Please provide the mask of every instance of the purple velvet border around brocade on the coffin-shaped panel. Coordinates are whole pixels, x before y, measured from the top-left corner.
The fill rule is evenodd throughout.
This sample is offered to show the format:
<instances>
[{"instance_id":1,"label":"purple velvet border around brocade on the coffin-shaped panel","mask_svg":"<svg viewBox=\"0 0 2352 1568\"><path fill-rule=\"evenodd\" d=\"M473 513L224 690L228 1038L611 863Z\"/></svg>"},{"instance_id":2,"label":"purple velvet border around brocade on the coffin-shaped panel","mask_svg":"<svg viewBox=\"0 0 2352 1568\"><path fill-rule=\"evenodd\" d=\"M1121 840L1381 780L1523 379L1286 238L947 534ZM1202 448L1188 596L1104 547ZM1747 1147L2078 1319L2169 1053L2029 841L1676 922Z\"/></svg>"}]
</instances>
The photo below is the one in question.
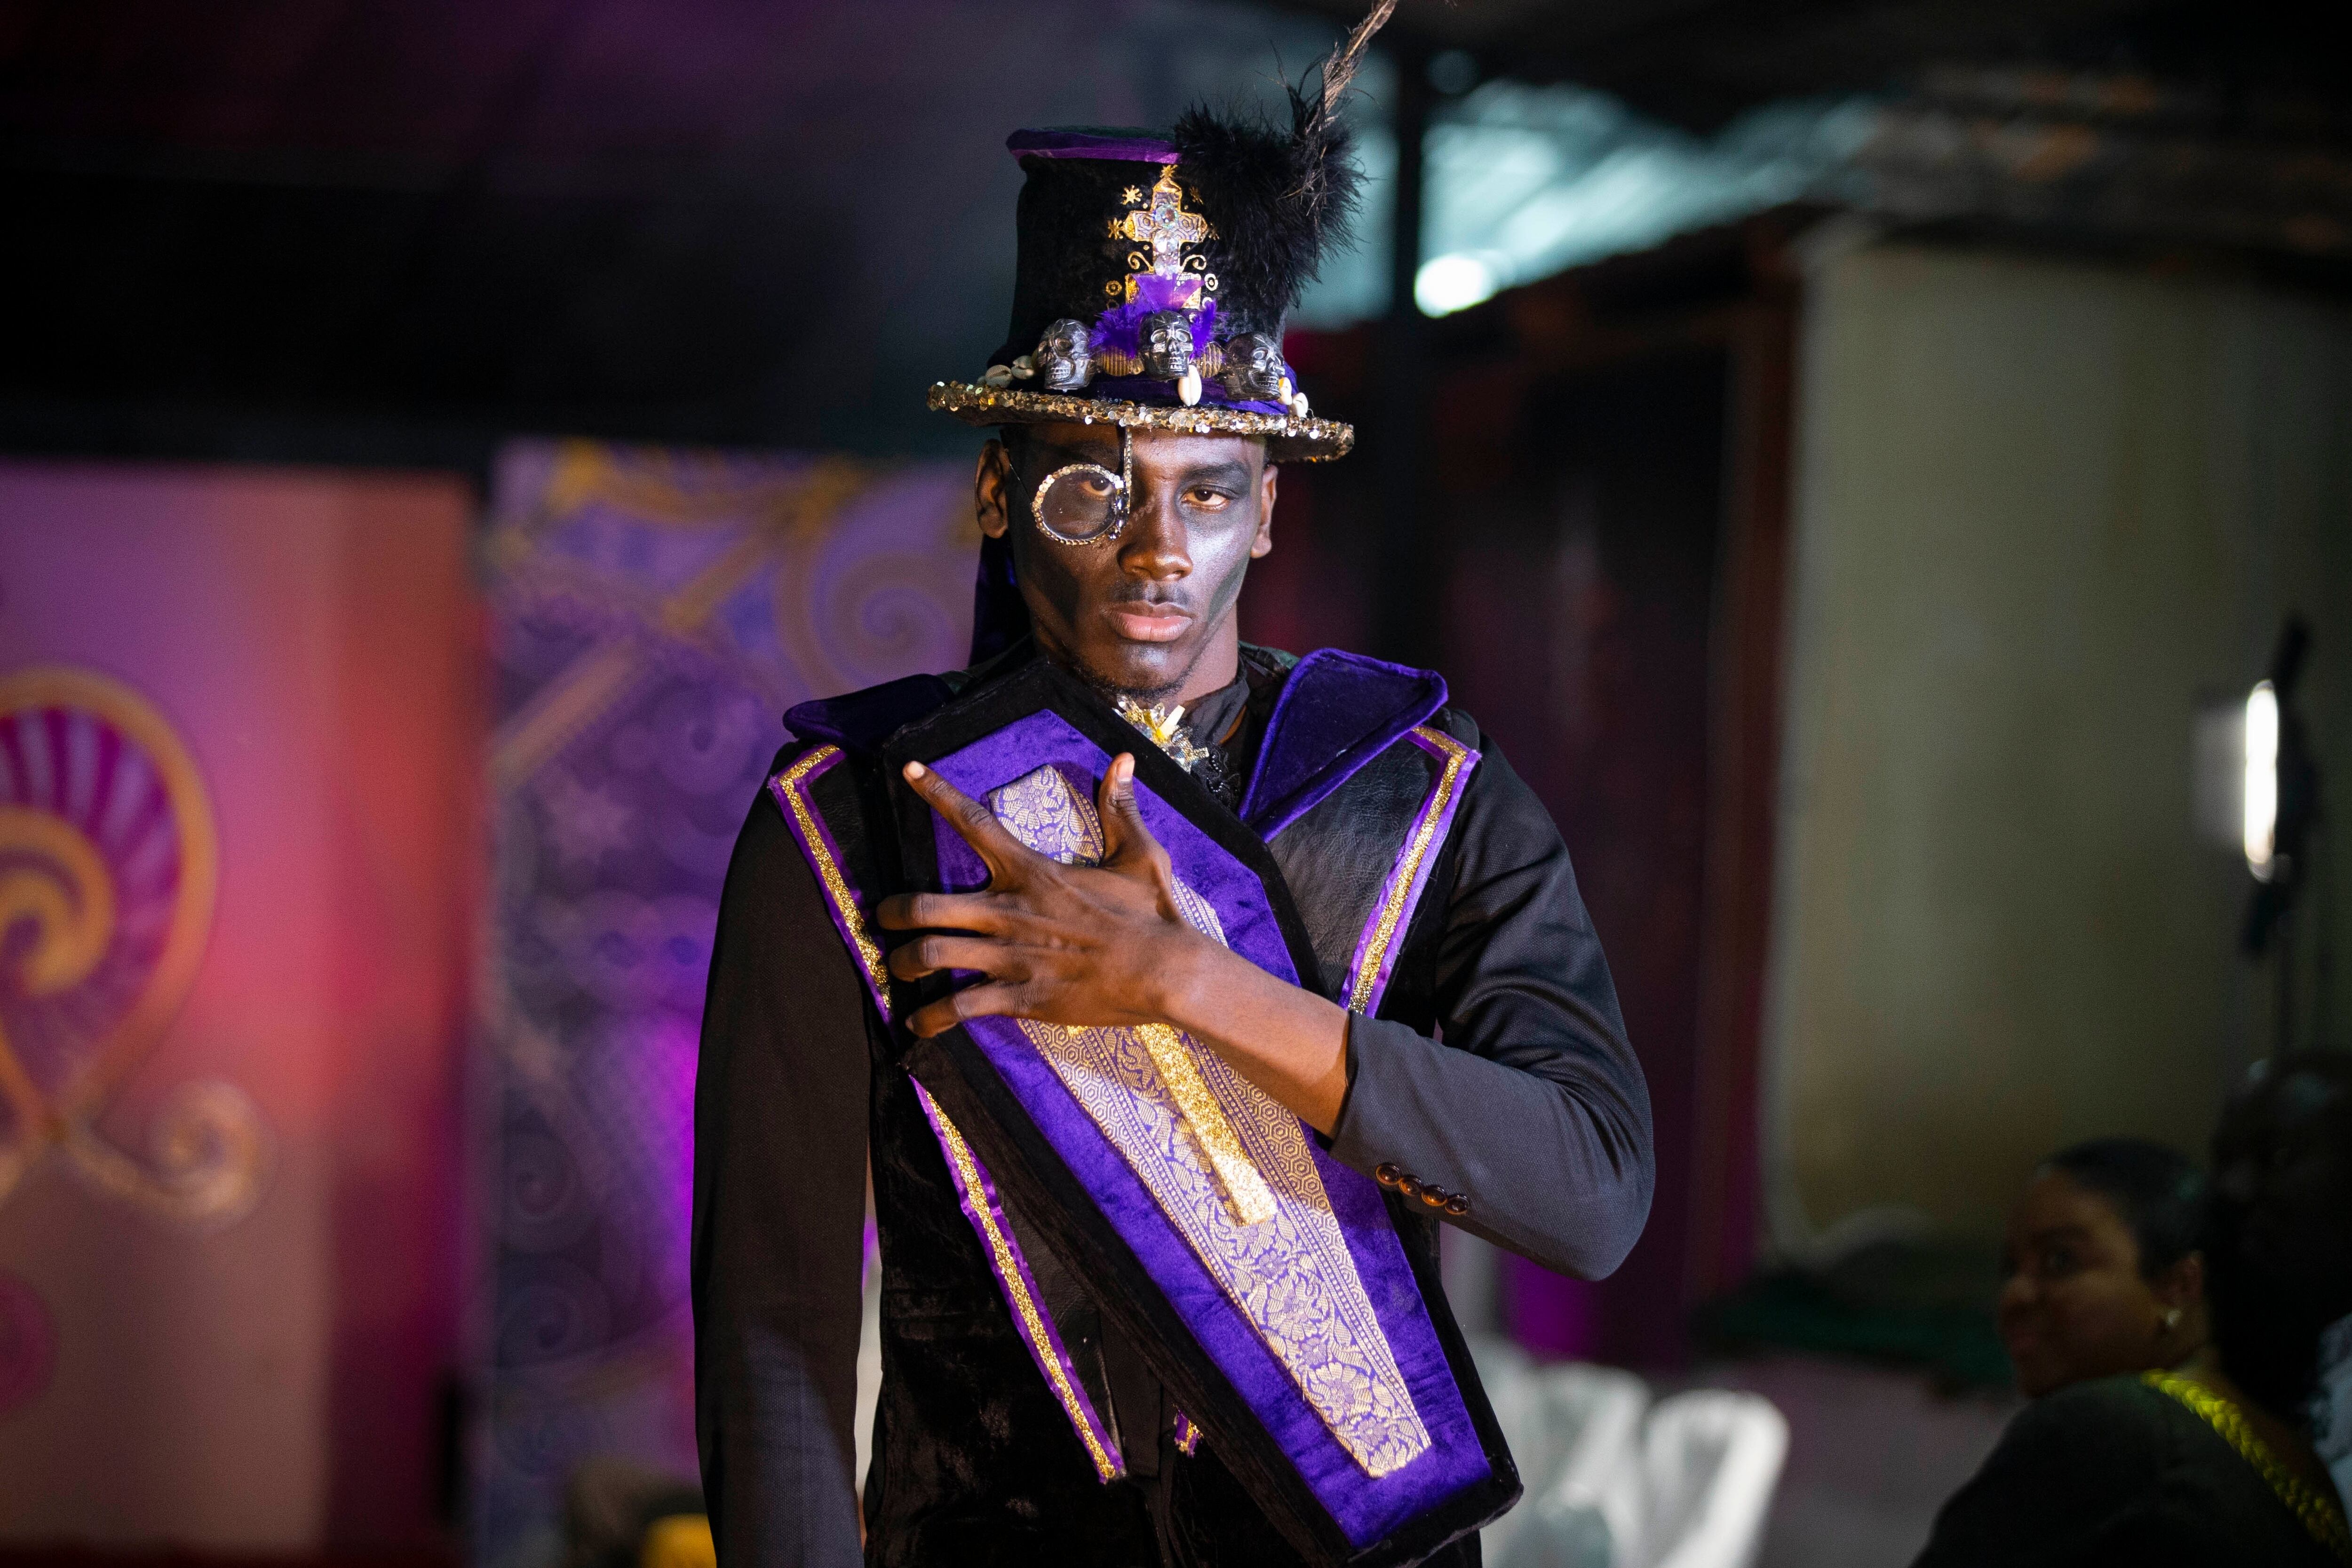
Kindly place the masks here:
<instances>
[{"instance_id":1,"label":"purple velvet border around brocade on the coffin-shaped panel","mask_svg":"<svg viewBox=\"0 0 2352 1568\"><path fill-rule=\"evenodd\" d=\"M1296 679L1296 672L1294 672ZM981 743L938 757L931 766L974 799L1037 766L1054 764L1094 783L1110 755L1054 712L1037 712ZM1336 788L1336 785L1334 785ZM1216 907L1235 952L1268 973L1298 983L1263 884L1214 844L1185 813L1141 778L1136 804L1169 851L1176 872ZM985 886L988 872L964 839L936 825L941 884L950 891ZM1124 1157L1070 1098L1054 1070L1023 1037L1018 1023L981 1018L964 1025L990 1065L1070 1166L1101 1213L1143 1260L1152 1281L1183 1316L1200 1347L1218 1363L1251 1413L1279 1441L1317 1502L1350 1547L1367 1547L1409 1519L1432 1512L1456 1493L1489 1479L1489 1462L1472 1427L1444 1347L1421 1300L1381 1190L1341 1166L1310 1140L1317 1175L1355 1258L1381 1328L1430 1432L1430 1448L1404 1469L1374 1481L1338 1446L1322 1418L1298 1394L1249 1319L1209 1276Z\"/></svg>"}]
</instances>

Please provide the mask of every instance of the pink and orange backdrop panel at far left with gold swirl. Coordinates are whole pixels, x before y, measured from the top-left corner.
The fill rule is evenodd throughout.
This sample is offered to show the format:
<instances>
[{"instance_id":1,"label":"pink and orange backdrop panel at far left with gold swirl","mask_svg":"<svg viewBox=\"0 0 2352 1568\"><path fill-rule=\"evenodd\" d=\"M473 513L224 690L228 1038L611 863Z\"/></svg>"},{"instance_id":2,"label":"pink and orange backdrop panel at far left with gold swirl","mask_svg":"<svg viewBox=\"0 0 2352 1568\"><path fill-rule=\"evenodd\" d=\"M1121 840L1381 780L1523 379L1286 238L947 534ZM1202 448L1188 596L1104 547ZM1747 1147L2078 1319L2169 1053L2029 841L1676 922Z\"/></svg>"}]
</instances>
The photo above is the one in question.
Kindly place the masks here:
<instances>
[{"instance_id":1,"label":"pink and orange backdrop panel at far left with gold swirl","mask_svg":"<svg viewBox=\"0 0 2352 1568\"><path fill-rule=\"evenodd\" d=\"M0 1544L433 1552L456 480L0 463Z\"/></svg>"}]
</instances>

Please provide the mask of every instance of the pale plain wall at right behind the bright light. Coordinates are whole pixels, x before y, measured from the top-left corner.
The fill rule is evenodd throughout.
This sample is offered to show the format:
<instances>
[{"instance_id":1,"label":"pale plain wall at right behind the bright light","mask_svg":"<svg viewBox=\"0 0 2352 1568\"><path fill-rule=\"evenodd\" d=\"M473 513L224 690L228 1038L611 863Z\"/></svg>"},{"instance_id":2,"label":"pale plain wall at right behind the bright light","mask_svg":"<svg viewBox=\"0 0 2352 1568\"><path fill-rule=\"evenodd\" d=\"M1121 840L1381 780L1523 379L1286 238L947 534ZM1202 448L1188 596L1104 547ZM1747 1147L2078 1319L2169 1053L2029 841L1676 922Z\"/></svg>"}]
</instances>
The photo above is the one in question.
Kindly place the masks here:
<instances>
[{"instance_id":1,"label":"pale plain wall at right behind the bright light","mask_svg":"<svg viewBox=\"0 0 2352 1568\"><path fill-rule=\"evenodd\" d=\"M1816 268L1766 1001L1783 1241L1879 1204L1992 1234L2074 1138L2201 1152L2270 987L2234 954L2244 867L2194 832L2194 712L2300 609L2352 816L2347 435L2340 306L1891 244Z\"/></svg>"}]
</instances>

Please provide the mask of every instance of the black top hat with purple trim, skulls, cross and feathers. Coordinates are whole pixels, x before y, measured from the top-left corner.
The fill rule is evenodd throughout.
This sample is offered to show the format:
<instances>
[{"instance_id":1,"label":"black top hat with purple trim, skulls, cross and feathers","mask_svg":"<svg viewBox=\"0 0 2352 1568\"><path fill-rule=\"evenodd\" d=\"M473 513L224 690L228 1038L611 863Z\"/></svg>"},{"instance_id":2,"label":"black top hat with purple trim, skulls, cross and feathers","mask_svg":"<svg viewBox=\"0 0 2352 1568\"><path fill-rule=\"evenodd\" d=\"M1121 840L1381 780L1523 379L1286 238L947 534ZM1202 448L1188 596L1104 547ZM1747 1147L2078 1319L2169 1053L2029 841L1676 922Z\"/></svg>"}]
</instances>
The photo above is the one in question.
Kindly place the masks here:
<instances>
[{"instance_id":1,"label":"black top hat with purple trim, skulls, cross and feathers","mask_svg":"<svg viewBox=\"0 0 2352 1568\"><path fill-rule=\"evenodd\" d=\"M1336 458L1350 425L1308 414L1282 320L1343 240L1359 174L1338 103L1383 0L1291 87L1291 125L1207 108L1171 132L1040 129L1004 143L1028 183L1011 336L929 402L974 425L1084 421L1263 435L1275 461Z\"/></svg>"}]
</instances>

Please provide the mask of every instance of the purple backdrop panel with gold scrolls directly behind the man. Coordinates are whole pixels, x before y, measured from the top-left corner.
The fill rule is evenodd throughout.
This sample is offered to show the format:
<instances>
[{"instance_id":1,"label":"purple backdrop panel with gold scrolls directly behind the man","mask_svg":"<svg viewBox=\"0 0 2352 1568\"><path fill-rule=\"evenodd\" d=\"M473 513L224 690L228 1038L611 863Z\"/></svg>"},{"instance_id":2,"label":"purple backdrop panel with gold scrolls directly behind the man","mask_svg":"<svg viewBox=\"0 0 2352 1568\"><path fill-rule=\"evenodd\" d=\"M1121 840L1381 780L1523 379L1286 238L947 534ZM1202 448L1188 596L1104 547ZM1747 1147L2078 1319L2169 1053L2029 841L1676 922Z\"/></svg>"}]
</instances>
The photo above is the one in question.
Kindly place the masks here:
<instances>
[{"instance_id":1,"label":"purple backdrop panel with gold scrolls directly behind the man","mask_svg":"<svg viewBox=\"0 0 2352 1568\"><path fill-rule=\"evenodd\" d=\"M553 1559L588 1460L694 1476L689 1133L727 856L786 708L964 663L976 548L964 463L499 463L485 1568Z\"/></svg>"}]
</instances>

